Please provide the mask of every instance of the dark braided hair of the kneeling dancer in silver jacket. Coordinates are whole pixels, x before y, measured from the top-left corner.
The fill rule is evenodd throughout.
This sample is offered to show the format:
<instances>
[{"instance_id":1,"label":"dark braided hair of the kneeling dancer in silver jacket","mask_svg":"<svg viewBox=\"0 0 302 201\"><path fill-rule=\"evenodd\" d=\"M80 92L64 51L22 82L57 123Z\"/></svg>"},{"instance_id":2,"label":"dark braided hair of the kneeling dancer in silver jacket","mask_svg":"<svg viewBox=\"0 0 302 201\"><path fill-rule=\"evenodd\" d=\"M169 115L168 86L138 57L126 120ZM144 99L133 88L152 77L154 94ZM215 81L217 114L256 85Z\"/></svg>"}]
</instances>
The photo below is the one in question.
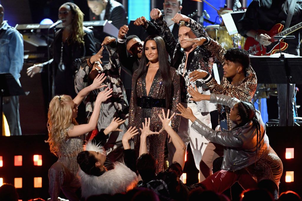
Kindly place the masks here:
<instances>
[{"instance_id":1,"label":"dark braided hair of the kneeling dancer in silver jacket","mask_svg":"<svg viewBox=\"0 0 302 201\"><path fill-rule=\"evenodd\" d=\"M255 117L256 115L255 106L251 102L241 101L238 103L238 112L239 112L239 116L242 119L242 123L239 124L240 126L247 124L249 121L252 121L252 123L256 127L256 132L257 132L256 159L257 159L258 139L259 141L261 140L261 127L259 121Z\"/></svg>"}]
</instances>

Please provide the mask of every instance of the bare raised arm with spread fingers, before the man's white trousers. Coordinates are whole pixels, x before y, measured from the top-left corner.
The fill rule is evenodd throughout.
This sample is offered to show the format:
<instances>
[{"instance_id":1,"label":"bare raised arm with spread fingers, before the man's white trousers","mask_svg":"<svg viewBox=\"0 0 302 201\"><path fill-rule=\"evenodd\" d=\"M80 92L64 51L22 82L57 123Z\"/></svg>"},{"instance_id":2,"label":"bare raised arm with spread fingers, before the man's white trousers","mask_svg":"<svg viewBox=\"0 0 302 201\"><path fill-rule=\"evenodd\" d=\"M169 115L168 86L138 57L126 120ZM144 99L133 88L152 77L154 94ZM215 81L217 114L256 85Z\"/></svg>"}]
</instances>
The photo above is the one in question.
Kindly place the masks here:
<instances>
[{"instance_id":1,"label":"bare raised arm with spread fingers, before the man's white trousers","mask_svg":"<svg viewBox=\"0 0 302 201\"><path fill-rule=\"evenodd\" d=\"M182 141L182 139L178 136L178 134L175 132L175 130L173 130L170 126L169 126L169 122L172 120L172 118L174 117L175 113L173 113L171 115L170 118L169 117L169 113L170 110L167 111L167 117L165 116L165 111L162 109L162 116L159 114L159 118L162 121L162 129L160 130L163 131L167 131L167 133L169 134L173 145L175 146L175 154L173 156L173 162L178 162L181 166L182 169L185 166L185 153L186 153L186 146L185 143Z\"/></svg>"}]
</instances>

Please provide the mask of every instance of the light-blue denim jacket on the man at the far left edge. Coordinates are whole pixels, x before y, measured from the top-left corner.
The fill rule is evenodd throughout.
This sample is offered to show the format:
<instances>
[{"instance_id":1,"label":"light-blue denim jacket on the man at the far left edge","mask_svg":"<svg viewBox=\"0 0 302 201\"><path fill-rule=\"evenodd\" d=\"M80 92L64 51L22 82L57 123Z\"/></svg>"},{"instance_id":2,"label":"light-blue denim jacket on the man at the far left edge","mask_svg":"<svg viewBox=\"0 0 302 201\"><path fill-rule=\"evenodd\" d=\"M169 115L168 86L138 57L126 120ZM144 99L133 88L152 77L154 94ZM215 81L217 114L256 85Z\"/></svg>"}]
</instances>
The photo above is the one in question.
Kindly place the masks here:
<instances>
[{"instance_id":1,"label":"light-blue denim jacket on the man at the far left edge","mask_svg":"<svg viewBox=\"0 0 302 201\"><path fill-rule=\"evenodd\" d=\"M22 34L9 26L7 21L3 21L0 34L0 73L11 73L20 84L24 56Z\"/></svg>"}]
</instances>

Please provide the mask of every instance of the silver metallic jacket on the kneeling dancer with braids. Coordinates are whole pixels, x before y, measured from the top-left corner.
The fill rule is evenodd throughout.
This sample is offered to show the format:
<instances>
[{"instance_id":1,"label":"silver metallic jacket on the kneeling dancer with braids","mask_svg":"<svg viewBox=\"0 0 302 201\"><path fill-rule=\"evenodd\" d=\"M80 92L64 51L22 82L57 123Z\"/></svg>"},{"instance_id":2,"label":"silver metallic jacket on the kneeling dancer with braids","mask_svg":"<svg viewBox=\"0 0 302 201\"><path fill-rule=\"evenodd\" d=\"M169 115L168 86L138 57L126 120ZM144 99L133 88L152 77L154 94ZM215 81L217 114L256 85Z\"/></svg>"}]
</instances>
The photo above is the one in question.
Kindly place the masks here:
<instances>
[{"instance_id":1,"label":"silver metallic jacket on the kneeling dancer with braids","mask_svg":"<svg viewBox=\"0 0 302 201\"><path fill-rule=\"evenodd\" d=\"M230 96L211 93L210 102L233 108L240 101ZM191 127L211 142L223 145L224 155L221 169L235 171L255 163L269 148L265 125L258 110L256 110L256 119L259 121L261 127L261 140L258 142L257 157L257 130L252 121L230 131L215 131L198 119L193 122Z\"/></svg>"}]
</instances>

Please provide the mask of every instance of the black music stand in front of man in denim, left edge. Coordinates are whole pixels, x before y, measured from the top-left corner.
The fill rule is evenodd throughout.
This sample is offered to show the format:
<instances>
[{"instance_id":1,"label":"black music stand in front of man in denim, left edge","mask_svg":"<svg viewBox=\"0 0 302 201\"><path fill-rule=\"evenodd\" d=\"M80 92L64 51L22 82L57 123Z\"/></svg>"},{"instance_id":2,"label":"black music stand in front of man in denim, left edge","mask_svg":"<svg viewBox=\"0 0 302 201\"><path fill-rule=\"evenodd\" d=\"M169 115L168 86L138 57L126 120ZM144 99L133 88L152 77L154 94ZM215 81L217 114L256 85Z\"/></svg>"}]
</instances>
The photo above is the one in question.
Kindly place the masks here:
<instances>
[{"instance_id":1,"label":"black music stand in front of man in denim, left edge","mask_svg":"<svg viewBox=\"0 0 302 201\"><path fill-rule=\"evenodd\" d=\"M10 73L0 73L0 136L2 136L3 97L28 95Z\"/></svg>"}]
</instances>

